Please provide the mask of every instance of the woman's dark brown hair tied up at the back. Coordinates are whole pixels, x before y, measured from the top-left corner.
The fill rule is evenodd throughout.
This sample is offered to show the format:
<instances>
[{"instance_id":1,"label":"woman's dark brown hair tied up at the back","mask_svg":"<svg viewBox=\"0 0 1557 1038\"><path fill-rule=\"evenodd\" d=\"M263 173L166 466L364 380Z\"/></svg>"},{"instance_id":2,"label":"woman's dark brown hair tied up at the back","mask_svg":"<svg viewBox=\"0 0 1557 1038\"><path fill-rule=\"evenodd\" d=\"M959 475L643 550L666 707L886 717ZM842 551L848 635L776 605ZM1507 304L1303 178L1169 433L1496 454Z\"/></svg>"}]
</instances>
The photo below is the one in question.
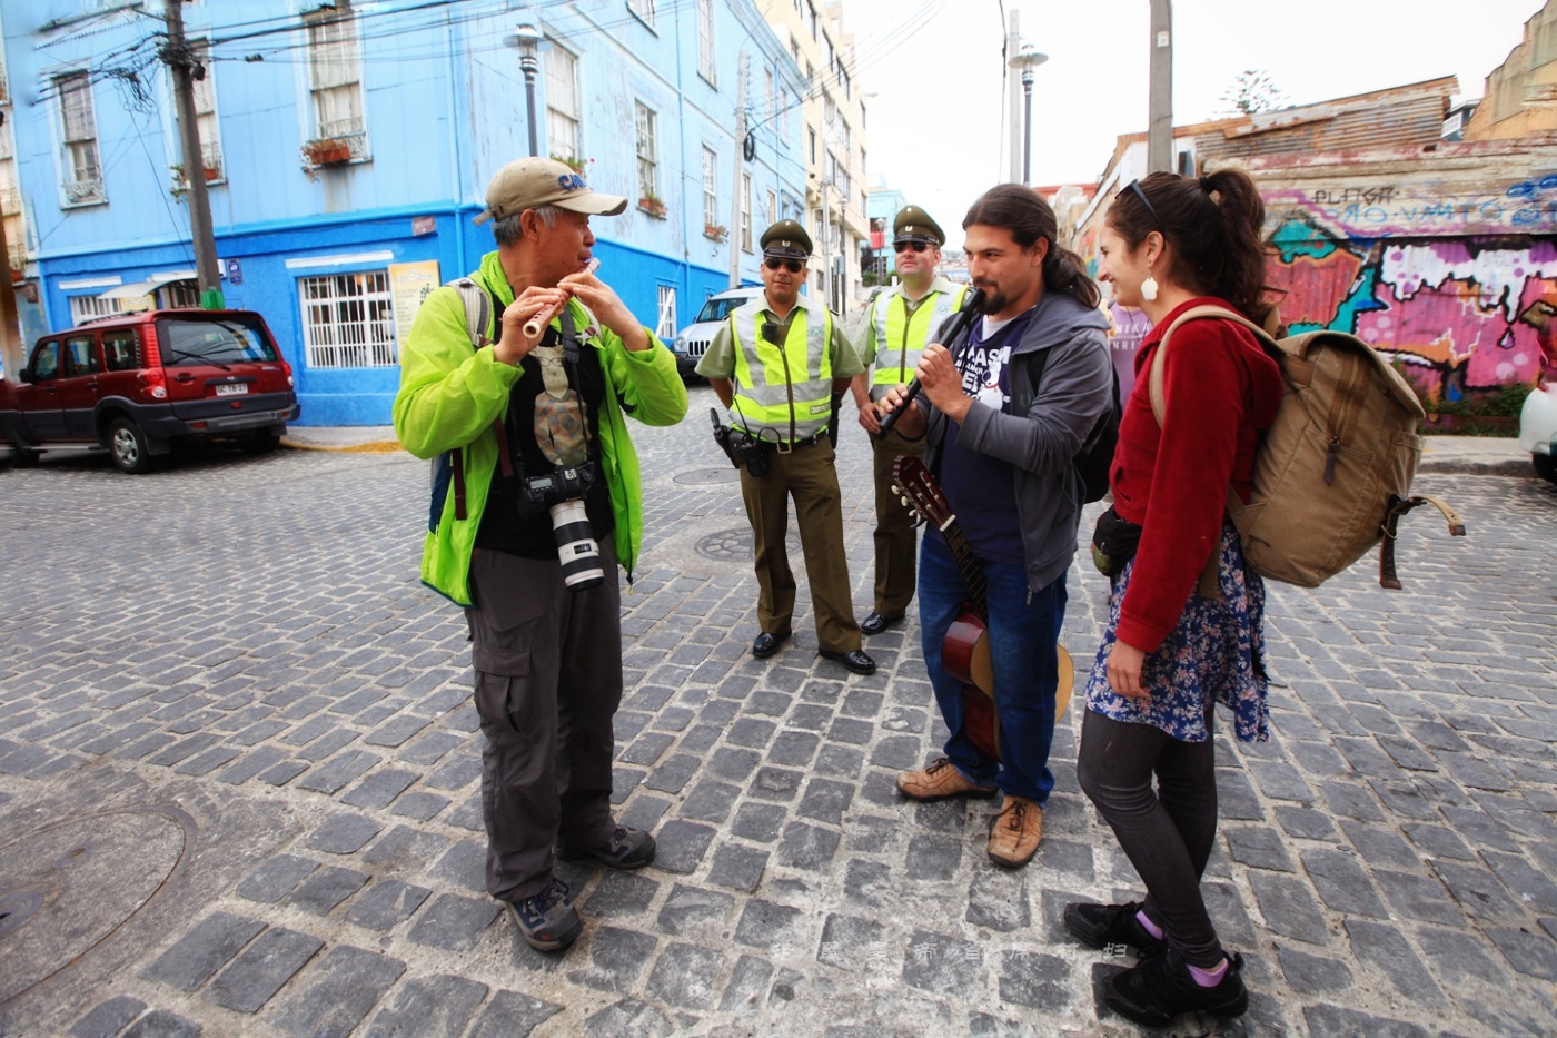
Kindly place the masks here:
<instances>
[{"instance_id":1,"label":"woman's dark brown hair tied up at the back","mask_svg":"<svg viewBox=\"0 0 1557 1038\"><path fill-rule=\"evenodd\" d=\"M1260 240L1264 203L1242 170L1228 167L1200 178L1151 173L1113 196L1105 221L1132 251L1152 231L1172 245L1157 277L1200 296L1221 296L1256 324L1274 309L1267 295L1280 290L1266 284Z\"/></svg>"}]
</instances>

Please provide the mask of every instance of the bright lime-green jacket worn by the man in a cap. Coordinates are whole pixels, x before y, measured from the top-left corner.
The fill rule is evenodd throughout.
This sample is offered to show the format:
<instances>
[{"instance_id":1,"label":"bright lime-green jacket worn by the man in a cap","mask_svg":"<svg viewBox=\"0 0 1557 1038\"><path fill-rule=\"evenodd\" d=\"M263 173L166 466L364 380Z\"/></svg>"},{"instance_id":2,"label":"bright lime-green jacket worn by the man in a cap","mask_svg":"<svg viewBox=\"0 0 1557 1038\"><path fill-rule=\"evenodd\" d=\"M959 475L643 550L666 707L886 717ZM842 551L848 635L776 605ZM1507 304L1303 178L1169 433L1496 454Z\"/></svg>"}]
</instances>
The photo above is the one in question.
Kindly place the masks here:
<instances>
[{"instance_id":1,"label":"bright lime-green jacket worn by the man in a cap","mask_svg":"<svg viewBox=\"0 0 1557 1038\"><path fill-rule=\"evenodd\" d=\"M514 302L514 288L503 274L497 252L481 259L470 276L501 304ZM617 521L617 560L632 580L643 544L643 486L638 455L621 418L627 411L646 425L674 425L687 416L687 387L676 374L676 355L665 343L629 351L613 332L599 327L578 299L568 302L573 324L599 352L606 372L606 399L599 415L599 475L610 488ZM497 315L492 315L495 334ZM559 321L553 320L553 326ZM508 413L509 391L523 369L506 365L490 349L473 349L466 330L466 307L455 288L434 290L417 310L411 334L400 351L400 393L394 401L394 427L400 444L419 458L436 458L461 447L466 475L466 519L455 517L455 494L444 500L438 527L422 545L422 583L459 606L470 605L470 555L481 527L487 488L497 469L498 444L492 429Z\"/></svg>"}]
</instances>

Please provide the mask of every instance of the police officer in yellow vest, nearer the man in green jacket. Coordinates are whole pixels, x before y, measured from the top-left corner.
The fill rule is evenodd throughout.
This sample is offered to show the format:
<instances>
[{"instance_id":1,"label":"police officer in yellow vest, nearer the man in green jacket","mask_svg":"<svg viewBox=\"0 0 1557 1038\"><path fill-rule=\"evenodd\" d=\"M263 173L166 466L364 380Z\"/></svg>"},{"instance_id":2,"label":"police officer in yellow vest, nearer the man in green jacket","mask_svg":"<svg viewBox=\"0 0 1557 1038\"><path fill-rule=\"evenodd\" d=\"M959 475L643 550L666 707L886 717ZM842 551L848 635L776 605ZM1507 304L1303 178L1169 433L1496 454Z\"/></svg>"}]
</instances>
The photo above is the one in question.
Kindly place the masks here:
<instances>
[{"instance_id":1,"label":"police officer in yellow vest, nearer the man in green jacket","mask_svg":"<svg viewBox=\"0 0 1557 1038\"><path fill-rule=\"evenodd\" d=\"M827 435L838 399L864 365L833 313L800 295L811 257L805 228L780 220L763 232L761 246L763 296L730 313L698 363L698 374L730 408L730 425L763 443L766 471L754 475L741 468L761 591L763 630L752 655L772 656L793 633L796 583L785 536L794 497L819 653L855 673L872 673L875 661L859 648L850 602L842 496Z\"/></svg>"}]
</instances>

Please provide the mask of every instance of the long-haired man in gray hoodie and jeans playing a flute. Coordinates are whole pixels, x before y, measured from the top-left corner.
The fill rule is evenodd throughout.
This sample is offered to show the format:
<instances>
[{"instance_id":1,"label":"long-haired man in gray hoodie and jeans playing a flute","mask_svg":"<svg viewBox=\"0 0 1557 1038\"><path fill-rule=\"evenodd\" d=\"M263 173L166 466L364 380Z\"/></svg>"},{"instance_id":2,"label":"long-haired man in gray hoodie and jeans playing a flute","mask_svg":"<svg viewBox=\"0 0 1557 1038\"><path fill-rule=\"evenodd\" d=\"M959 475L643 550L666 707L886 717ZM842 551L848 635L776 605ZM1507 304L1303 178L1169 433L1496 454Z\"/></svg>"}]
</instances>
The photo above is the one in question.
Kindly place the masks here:
<instances>
[{"instance_id":1,"label":"long-haired man in gray hoodie and jeans playing a flute","mask_svg":"<svg viewBox=\"0 0 1557 1038\"><path fill-rule=\"evenodd\" d=\"M902 410L891 421L903 435L928 433L920 489L939 480L947 503L923 539L919 611L951 736L945 756L897 786L912 800L1003 793L989 856L1018 868L1039 849L1054 789L1056 642L1082 502L1076 457L1113 405L1109 323L1035 192L990 189L962 229L982 316L965 338L925 346L916 377L928 405L908 387L878 404L883 415ZM992 709L981 711L986 694Z\"/></svg>"}]
</instances>

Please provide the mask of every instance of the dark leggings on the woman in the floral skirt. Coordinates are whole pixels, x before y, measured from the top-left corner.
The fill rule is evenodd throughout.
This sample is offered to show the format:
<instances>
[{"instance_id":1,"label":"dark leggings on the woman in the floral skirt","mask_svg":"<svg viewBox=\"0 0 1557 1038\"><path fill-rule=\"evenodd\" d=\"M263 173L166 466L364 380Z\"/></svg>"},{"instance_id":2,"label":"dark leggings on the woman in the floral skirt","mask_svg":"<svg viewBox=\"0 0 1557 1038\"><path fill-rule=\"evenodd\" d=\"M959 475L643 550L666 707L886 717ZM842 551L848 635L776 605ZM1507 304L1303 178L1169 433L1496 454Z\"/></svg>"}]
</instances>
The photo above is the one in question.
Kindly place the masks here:
<instances>
[{"instance_id":1,"label":"dark leggings on the woman in the floral skirt","mask_svg":"<svg viewBox=\"0 0 1557 1038\"><path fill-rule=\"evenodd\" d=\"M1214 969L1224 952L1200 898L1216 842L1214 740L1180 742L1087 711L1076 778L1146 882L1146 915L1186 963Z\"/></svg>"}]
</instances>

